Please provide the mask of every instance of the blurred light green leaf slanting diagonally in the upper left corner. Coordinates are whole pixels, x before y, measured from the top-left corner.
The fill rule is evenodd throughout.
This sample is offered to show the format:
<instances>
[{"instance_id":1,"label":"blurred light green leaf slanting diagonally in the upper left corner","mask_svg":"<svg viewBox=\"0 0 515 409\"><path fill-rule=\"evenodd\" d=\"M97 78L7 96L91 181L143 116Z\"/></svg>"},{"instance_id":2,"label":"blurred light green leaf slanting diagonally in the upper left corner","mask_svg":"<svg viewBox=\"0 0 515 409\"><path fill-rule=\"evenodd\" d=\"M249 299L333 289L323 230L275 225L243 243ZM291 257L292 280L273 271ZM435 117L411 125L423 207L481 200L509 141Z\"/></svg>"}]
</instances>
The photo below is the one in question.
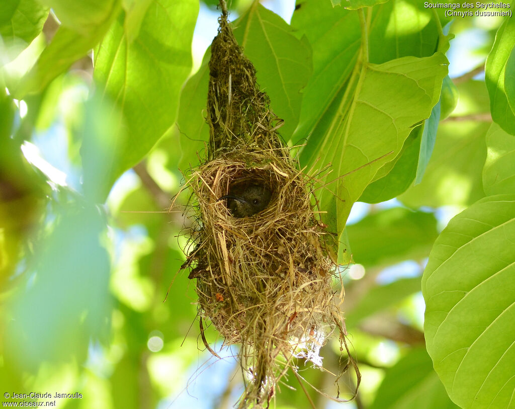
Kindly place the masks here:
<instances>
[{"instance_id":1,"label":"blurred light green leaf slanting diagonally in the upper left corner","mask_svg":"<svg viewBox=\"0 0 515 409\"><path fill-rule=\"evenodd\" d=\"M87 55L100 41L118 12L118 1L109 0L101 8L102 19L92 22L87 33L79 32L76 27L61 25L52 42L43 50L36 64L14 90L16 98L27 93L41 92L47 84L66 71L75 61Z\"/></svg>"}]
</instances>

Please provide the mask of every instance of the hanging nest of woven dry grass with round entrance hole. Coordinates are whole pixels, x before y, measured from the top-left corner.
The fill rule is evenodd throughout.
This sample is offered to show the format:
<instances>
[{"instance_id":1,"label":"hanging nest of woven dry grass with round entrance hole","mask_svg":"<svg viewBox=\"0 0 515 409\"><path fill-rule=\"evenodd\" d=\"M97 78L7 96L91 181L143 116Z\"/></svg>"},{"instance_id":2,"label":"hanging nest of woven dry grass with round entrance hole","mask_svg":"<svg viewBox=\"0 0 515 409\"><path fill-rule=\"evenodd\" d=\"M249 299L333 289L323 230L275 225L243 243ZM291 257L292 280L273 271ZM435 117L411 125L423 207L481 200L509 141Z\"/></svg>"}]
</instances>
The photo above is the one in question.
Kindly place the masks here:
<instances>
[{"instance_id":1,"label":"hanging nest of woven dry grass with round entrance hole","mask_svg":"<svg viewBox=\"0 0 515 409\"><path fill-rule=\"evenodd\" d=\"M267 407L297 359L321 367L328 336L338 329L347 348L346 334L312 179L290 158L277 132L282 121L234 39L223 0L220 6L209 64L210 141L187 178L196 223L183 267L196 279L201 332L202 318L210 320L225 345L241 346L248 381L238 407ZM246 186L269 192L269 202L234 217L229 199L220 198Z\"/></svg>"}]
</instances>

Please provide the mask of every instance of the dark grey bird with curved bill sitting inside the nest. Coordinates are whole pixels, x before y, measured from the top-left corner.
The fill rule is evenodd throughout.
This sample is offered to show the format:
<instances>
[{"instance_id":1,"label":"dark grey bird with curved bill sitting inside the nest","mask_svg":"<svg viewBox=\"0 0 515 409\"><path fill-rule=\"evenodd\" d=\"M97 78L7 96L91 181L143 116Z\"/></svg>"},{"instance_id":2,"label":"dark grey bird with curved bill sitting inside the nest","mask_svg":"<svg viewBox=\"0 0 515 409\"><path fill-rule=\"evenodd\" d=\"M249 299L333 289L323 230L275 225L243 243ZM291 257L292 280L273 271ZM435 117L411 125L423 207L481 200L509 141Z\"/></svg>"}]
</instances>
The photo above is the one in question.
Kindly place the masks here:
<instances>
[{"instance_id":1,"label":"dark grey bird with curved bill sitting inside the nest","mask_svg":"<svg viewBox=\"0 0 515 409\"><path fill-rule=\"evenodd\" d=\"M264 210L271 198L270 190L260 184L232 186L229 194L218 200L227 199L227 207L233 217L248 217Z\"/></svg>"}]
</instances>

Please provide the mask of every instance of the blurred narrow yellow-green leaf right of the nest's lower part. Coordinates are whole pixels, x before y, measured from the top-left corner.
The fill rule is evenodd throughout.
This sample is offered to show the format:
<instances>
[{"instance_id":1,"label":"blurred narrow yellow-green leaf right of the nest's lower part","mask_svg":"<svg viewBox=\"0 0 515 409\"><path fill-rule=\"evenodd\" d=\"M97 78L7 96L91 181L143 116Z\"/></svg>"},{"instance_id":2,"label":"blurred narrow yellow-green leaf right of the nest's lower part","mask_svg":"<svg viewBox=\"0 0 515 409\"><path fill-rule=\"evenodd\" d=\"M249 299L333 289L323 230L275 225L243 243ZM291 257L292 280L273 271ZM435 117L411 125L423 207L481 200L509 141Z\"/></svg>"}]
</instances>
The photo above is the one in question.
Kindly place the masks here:
<instances>
[{"instance_id":1,"label":"blurred narrow yellow-green leaf right of the nest's lower part","mask_svg":"<svg viewBox=\"0 0 515 409\"><path fill-rule=\"evenodd\" d=\"M346 311L347 328L356 326L359 321L403 301L411 294L420 291L420 277L402 278L386 285L376 285L358 301L350 311Z\"/></svg>"}]
</instances>

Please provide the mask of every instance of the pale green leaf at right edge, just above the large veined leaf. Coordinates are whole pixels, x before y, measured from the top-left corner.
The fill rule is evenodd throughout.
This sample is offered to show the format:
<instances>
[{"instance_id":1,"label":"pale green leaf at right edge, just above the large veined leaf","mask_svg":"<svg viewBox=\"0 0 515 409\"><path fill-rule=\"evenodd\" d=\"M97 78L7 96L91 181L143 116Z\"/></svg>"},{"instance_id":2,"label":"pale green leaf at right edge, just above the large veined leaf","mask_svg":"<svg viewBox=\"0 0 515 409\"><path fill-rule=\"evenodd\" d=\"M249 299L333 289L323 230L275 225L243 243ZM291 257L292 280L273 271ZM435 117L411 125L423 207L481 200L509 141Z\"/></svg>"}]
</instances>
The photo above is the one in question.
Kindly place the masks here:
<instances>
[{"instance_id":1,"label":"pale green leaf at right edge, just above the large veined leaf","mask_svg":"<svg viewBox=\"0 0 515 409\"><path fill-rule=\"evenodd\" d=\"M492 124L486 135L488 154L483 168L487 195L515 192L515 138Z\"/></svg>"}]
</instances>

